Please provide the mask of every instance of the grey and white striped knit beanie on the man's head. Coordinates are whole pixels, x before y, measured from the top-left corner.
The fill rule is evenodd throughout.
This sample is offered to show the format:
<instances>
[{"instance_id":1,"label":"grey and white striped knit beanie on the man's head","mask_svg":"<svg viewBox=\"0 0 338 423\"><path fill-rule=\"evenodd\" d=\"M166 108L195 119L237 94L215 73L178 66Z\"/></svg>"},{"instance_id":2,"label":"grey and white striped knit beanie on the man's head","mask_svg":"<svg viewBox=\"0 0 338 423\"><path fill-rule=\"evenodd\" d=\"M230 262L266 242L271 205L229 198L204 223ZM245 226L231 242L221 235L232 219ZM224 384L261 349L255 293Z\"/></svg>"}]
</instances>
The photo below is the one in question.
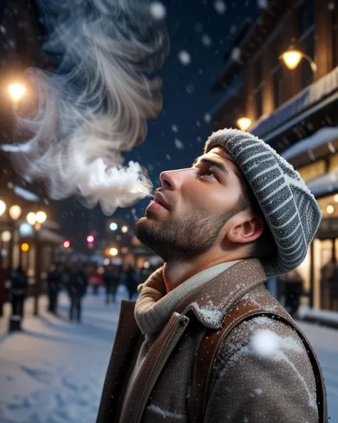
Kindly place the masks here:
<instances>
[{"instance_id":1,"label":"grey and white striped knit beanie on the man's head","mask_svg":"<svg viewBox=\"0 0 338 423\"><path fill-rule=\"evenodd\" d=\"M262 259L268 277L298 267L317 232L322 213L304 180L264 141L237 129L212 133L204 153L225 148L255 195L277 245L276 257Z\"/></svg>"}]
</instances>

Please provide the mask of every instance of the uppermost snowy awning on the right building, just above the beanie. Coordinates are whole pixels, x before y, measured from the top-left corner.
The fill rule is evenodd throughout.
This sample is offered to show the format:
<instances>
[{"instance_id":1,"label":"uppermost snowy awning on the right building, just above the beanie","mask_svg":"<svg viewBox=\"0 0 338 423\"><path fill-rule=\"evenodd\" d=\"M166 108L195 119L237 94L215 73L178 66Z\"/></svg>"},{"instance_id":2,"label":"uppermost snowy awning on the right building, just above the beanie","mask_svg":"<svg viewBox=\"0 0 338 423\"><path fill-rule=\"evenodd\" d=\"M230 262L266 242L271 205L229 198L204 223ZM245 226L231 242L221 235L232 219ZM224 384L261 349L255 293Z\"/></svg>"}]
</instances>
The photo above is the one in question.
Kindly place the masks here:
<instances>
[{"instance_id":1,"label":"uppermost snowy awning on the right building, just above the beanie","mask_svg":"<svg viewBox=\"0 0 338 423\"><path fill-rule=\"evenodd\" d=\"M250 133L268 142L337 98L338 66L258 122Z\"/></svg>"}]
</instances>

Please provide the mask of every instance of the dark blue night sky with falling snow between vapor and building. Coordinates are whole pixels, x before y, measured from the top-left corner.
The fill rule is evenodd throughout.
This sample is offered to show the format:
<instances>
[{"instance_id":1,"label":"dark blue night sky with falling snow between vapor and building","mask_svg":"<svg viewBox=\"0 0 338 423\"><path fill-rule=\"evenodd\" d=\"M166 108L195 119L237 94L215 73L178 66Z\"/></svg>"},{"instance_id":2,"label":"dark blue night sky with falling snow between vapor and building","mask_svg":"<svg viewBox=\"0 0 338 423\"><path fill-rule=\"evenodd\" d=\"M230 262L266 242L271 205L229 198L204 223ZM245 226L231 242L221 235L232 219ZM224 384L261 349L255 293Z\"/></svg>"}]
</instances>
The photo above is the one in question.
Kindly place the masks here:
<instances>
[{"instance_id":1,"label":"dark blue night sky with falling snow between vapor and building","mask_svg":"<svg viewBox=\"0 0 338 423\"><path fill-rule=\"evenodd\" d=\"M148 168L154 189L160 186L163 170L190 166L203 151L212 128L205 115L215 108L225 92L212 93L211 86L225 69L223 59L242 22L257 19L262 0L227 0L224 13L217 12L215 0L165 0L166 25L171 49L163 68L163 111L148 123L144 143L126 153ZM187 51L190 63L184 65L179 53ZM176 140L176 141L175 141ZM177 141L178 140L178 141ZM124 217L130 225L144 214L149 199L130 208L118 209L114 215ZM84 209L74 199L56 203L63 234L74 244L84 243L90 230L102 233L106 217L99 207ZM77 240L77 242L76 242Z\"/></svg>"}]
</instances>

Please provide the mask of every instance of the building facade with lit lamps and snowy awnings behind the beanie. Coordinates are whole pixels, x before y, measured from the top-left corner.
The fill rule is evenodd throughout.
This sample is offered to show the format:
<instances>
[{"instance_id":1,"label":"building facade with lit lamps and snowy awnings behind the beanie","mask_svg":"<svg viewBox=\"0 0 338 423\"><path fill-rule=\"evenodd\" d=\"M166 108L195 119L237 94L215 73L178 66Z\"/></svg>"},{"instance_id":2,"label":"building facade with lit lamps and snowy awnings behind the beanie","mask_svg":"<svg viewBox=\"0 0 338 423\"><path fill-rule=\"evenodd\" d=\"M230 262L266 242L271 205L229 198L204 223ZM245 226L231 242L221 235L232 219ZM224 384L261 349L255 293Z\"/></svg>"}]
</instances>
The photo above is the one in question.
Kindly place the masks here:
<instances>
[{"instance_id":1,"label":"building facade with lit lamps and snowy awnings behind the beanie","mask_svg":"<svg viewBox=\"0 0 338 423\"><path fill-rule=\"evenodd\" d=\"M302 53L293 69L282 60L286 51ZM227 56L213 87L225 92L213 126L236 127L247 118L247 131L302 175L323 219L297 272L309 306L338 310L337 0L270 0Z\"/></svg>"}]
</instances>

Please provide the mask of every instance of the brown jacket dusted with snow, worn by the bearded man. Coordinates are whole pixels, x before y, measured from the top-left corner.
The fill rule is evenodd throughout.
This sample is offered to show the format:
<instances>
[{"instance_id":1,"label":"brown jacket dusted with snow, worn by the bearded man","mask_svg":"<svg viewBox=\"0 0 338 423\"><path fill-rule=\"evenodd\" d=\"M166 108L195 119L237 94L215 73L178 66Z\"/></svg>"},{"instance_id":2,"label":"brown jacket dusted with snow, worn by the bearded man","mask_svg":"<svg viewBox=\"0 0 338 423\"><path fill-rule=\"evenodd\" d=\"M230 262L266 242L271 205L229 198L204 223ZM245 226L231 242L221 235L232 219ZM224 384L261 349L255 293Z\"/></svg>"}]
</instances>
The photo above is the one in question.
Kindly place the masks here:
<instances>
[{"instance_id":1,"label":"brown jacket dusted with snow, worn by the bearded man","mask_svg":"<svg viewBox=\"0 0 338 423\"><path fill-rule=\"evenodd\" d=\"M121 415L128 374L143 342L133 315L135 303L124 301L96 422L190 422L190 381L207 328L220 329L240 297L286 314L265 289L265 280L259 260L242 260L185 298L145 356ZM263 349L262 356L265 339L275 347L267 356ZM243 322L220 346L207 398L205 423L318 422L307 352L295 330L269 317Z\"/></svg>"}]
</instances>

